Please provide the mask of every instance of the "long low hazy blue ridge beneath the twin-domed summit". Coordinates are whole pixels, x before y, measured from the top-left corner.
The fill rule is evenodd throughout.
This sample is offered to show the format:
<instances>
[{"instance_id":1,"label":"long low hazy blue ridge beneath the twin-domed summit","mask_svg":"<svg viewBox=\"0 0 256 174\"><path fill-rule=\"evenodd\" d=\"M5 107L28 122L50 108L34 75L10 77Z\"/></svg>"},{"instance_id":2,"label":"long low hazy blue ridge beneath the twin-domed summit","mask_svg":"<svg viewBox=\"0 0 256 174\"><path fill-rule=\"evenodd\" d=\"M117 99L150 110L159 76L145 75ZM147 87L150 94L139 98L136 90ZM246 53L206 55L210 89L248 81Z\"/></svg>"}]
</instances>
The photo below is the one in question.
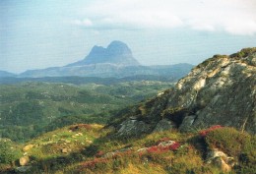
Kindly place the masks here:
<instances>
[{"instance_id":1,"label":"long low hazy blue ridge beneath the twin-domed summit","mask_svg":"<svg viewBox=\"0 0 256 174\"><path fill-rule=\"evenodd\" d=\"M42 77L100 77L125 78L141 75L167 77L178 80L187 75L193 68L190 64L176 64L167 66L118 66L113 64L93 64L76 67L55 67L44 70L31 70L21 74L20 78Z\"/></svg>"}]
</instances>

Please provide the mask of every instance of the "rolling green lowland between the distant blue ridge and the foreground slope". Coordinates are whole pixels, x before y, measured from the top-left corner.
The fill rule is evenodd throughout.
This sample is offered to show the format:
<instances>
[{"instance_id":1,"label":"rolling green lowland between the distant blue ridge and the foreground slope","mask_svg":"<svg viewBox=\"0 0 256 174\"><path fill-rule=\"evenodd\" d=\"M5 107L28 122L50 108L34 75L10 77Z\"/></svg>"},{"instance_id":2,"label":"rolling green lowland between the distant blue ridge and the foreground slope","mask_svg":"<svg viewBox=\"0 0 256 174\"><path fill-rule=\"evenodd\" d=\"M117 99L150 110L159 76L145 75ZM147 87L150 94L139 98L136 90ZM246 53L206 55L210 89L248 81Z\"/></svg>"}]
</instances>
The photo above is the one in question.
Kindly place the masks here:
<instances>
[{"instance_id":1,"label":"rolling green lowland between the distant blue ridge and the foreground slope","mask_svg":"<svg viewBox=\"0 0 256 174\"><path fill-rule=\"evenodd\" d=\"M0 137L26 142L74 123L104 124L117 109L171 87L138 81L112 85L24 82L0 86Z\"/></svg>"}]
</instances>

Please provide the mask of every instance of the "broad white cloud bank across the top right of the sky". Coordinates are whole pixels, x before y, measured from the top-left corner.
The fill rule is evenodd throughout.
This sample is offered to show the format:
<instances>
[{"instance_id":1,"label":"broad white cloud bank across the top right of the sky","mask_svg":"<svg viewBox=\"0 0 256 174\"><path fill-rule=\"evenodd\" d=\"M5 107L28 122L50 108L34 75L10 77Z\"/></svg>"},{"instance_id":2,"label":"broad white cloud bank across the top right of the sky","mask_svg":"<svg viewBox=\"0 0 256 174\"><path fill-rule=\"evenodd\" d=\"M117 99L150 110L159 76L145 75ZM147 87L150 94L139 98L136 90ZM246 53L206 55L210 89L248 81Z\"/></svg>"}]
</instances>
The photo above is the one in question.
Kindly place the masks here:
<instances>
[{"instance_id":1,"label":"broad white cloud bank across the top right of the sky","mask_svg":"<svg viewBox=\"0 0 256 174\"><path fill-rule=\"evenodd\" d=\"M246 35L256 34L255 8L255 0L95 0L81 9L82 20L74 24L95 29L188 27Z\"/></svg>"}]
</instances>

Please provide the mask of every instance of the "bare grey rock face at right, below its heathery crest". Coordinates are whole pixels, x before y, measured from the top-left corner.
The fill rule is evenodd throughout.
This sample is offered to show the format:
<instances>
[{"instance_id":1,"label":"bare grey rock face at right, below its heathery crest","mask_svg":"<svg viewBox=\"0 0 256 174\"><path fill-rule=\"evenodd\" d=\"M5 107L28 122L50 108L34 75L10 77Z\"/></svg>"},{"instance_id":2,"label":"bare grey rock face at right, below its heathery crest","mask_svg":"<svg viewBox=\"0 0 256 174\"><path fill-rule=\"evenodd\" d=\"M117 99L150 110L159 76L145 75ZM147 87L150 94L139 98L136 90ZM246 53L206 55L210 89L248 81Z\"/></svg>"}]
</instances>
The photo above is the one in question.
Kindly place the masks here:
<instances>
[{"instance_id":1,"label":"bare grey rock face at right, below its heathery crest","mask_svg":"<svg viewBox=\"0 0 256 174\"><path fill-rule=\"evenodd\" d=\"M250 64L254 59L223 56L203 62L177 83L167 107L193 113L194 129L223 125L255 134L256 67ZM187 119L183 122L180 129L188 131Z\"/></svg>"}]
</instances>

